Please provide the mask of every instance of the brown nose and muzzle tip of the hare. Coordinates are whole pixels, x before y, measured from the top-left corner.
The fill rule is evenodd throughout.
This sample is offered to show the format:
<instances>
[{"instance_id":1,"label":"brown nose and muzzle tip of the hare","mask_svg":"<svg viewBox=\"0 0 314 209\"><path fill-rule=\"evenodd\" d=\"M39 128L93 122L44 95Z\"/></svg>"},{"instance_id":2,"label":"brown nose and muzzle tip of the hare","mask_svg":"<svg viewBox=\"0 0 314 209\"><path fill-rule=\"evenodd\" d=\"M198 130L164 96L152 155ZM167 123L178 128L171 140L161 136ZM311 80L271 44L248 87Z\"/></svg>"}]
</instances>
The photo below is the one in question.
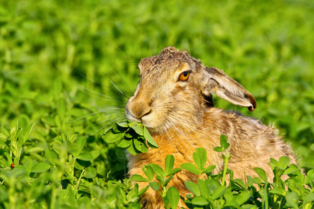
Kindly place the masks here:
<instances>
[{"instance_id":1,"label":"brown nose and muzzle tip of the hare","mask_svg":"<svg viewBox=\"0 0 314 209\"><path fill-rule=\"evenodd\" d=\"M127 112L132 114L134 118L140 119L151 112L151 107L145 101L133 100L128 103Z\"/></svg>"}]
</instances>

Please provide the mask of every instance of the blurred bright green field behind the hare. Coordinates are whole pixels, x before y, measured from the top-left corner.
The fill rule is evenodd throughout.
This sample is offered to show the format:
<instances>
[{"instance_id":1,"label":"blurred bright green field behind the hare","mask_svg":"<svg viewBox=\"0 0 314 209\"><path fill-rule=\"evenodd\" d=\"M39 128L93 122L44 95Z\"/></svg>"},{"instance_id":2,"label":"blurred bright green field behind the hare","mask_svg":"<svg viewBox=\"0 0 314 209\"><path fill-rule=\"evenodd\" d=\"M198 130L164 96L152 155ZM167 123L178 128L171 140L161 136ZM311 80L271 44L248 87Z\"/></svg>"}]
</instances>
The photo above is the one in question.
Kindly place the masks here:
<instances>
[{"instance_id":1,"label":"blurred bright green field behind the hare","mask_svg":"<svg viewBox=\"0 0 314 209\"><path fill-rule=\"evenodd\" d=\"M100 150L98 173L121 178L123 150L100 139L124 113L111 82L131 95L140 59L171 45L257 100L253 113L218 98L216 107L276 125L314 167L314 1L0 2L0 123L36 121L29 155L73 127Z\"/></svg>"}]
</instances>

